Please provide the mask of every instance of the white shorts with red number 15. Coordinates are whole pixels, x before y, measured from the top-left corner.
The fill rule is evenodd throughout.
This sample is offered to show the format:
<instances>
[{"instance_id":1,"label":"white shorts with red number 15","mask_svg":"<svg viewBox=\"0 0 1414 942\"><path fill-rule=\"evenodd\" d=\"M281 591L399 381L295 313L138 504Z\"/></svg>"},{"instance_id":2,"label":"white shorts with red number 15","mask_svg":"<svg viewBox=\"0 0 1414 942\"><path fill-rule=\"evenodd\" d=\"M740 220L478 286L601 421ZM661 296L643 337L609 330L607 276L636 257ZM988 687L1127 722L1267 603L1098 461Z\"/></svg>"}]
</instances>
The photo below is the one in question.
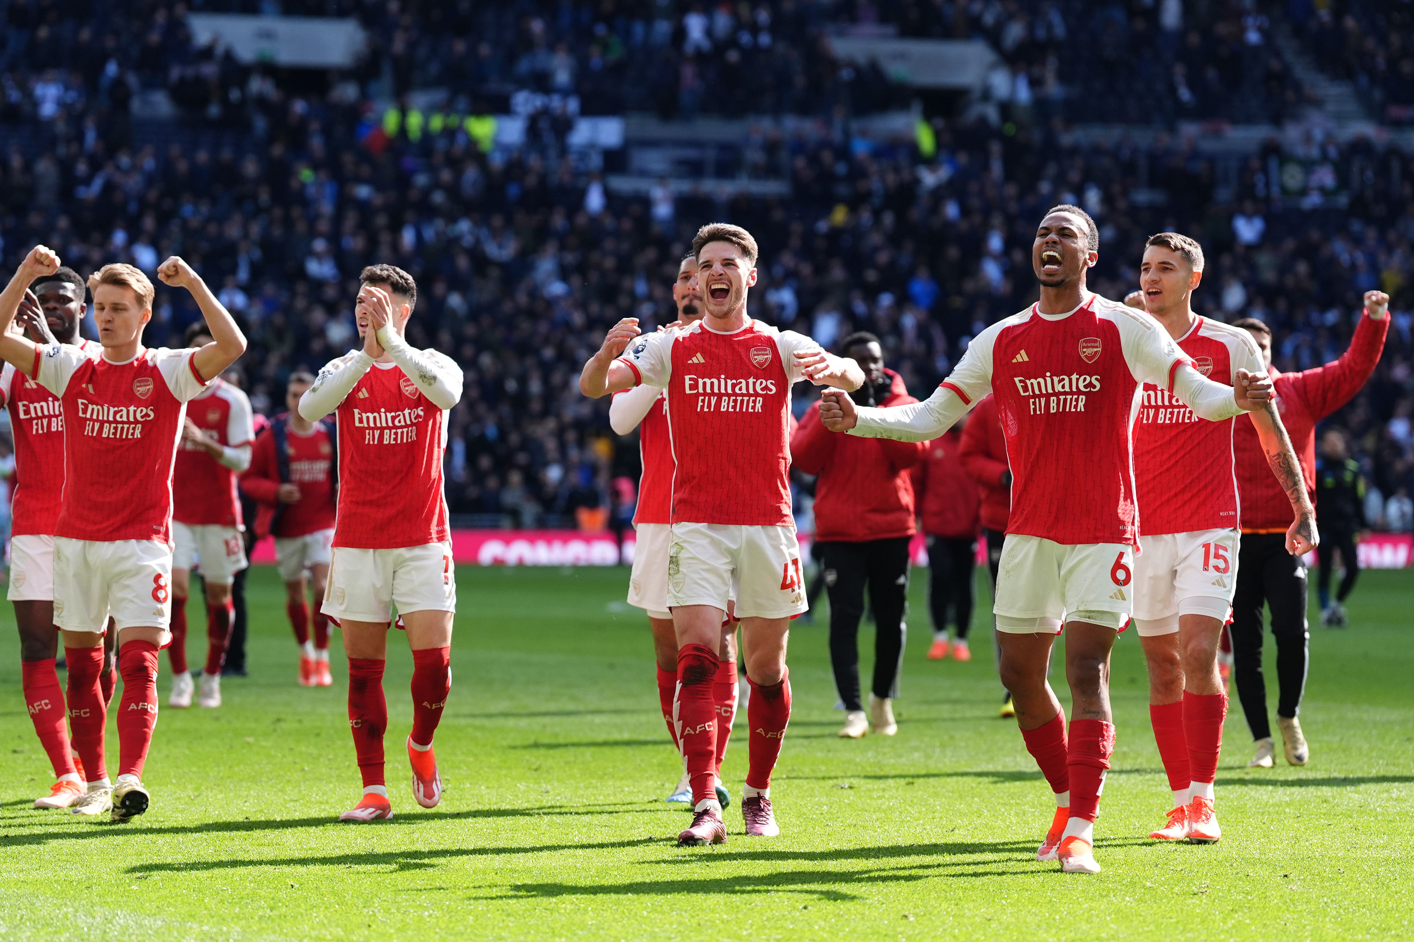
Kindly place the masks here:
<instances>
[{"instance_id":1,"label":"white shorts with red number 15","mask_svg":"<svg viewBox=\"0 0 1414 942\"><path fill-rule=\"evenodd\" d=\"M1178 616L1226 621L1237 588L1237 544L1230 528L1140 537L1134 559L1134 628L1174 634Z\"/></svg>"}]
</instances>

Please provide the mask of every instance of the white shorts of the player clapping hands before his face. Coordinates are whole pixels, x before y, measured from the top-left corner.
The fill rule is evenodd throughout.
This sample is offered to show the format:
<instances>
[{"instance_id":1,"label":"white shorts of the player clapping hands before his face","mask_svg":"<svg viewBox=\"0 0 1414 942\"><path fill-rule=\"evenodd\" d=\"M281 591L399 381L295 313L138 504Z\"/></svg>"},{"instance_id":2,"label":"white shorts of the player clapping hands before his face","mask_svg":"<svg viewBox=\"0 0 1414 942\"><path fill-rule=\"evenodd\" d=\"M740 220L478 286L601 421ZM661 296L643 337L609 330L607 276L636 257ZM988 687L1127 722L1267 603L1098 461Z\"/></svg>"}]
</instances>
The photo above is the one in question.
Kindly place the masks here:
<instances>
[{"instance_id":1,"label":"white shorts of the player clapping hands before his face","mask_svg":"<svg viewBox=\"0 0 1414 942\"><path fill-rule=\"evenodd\" d=\"M457 610L457 568L450 542L402 549L335 547L320 610L339 621L392 621L410 612Z\"/></svg>"}]
</instances>

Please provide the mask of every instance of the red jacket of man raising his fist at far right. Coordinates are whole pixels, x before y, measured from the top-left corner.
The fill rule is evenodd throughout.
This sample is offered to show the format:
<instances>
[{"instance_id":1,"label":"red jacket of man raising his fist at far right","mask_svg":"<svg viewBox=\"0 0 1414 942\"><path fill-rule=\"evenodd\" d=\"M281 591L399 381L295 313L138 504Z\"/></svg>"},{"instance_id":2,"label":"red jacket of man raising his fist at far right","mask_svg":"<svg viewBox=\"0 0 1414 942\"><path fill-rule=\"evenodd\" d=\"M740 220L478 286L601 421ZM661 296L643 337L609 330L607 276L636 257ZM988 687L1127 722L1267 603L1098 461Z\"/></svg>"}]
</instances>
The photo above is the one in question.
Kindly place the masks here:
<instances>
[{"instance_id":1,"label":"red jacket of man raising his fist at far right","mask_svg":"<svg viewBox=\"0 0 1414 942\"><path fill-rule=\"evenodd\" d=\"M1384 335L1390 329L1390 315L1374 321L1365 314L1350 338L1350 349L1335 363L1326 363L1301 373L1278 373L1271 369L1275 386L1277 411L1287 427L1291 448L1301 460L1301 476L1307 479L1307 493L1316 503L1316 422L1350 401L1380 362ZM1291 525L1291 500L1277 483L1267 465L1261 441L1251 419L1237 419L1233 427L1233 452L1237 456L1237 496L1241 499L1241 528L1244 532L1285 532Z\"/></svg>"}]
</instances>

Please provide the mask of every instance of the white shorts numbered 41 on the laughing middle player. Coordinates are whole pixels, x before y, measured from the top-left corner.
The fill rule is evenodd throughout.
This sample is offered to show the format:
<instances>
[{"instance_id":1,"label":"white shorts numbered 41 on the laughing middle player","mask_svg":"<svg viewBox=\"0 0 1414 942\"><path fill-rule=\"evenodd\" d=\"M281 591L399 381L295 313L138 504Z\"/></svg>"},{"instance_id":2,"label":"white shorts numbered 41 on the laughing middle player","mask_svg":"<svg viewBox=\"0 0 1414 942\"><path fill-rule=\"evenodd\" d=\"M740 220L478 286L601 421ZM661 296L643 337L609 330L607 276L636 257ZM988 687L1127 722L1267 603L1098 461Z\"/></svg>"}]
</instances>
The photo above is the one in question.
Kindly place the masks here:
<instances>
[{"instance_id":1,"label":"white shorts numbered 41 on the laughing middle player","mask_svg":"<svg viewBox=\"0 0 1414 942\"><path fill-rule=\"evenodd\" d=\"M673 524L667 607L710 604L725 612L732 589L738 619L790 619L806 612L795 527Z\"/></svg>"}]
</instances>

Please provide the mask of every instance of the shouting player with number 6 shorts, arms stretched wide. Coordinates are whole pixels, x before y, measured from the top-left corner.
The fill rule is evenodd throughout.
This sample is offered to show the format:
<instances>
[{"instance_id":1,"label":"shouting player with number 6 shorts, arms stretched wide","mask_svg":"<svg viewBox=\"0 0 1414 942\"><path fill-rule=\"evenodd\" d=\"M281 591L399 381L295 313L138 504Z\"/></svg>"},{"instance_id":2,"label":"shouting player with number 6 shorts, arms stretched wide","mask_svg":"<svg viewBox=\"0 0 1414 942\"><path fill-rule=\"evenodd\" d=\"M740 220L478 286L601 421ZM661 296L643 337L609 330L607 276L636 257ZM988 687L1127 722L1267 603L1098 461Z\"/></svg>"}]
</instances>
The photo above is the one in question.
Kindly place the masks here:
<instances>
[{"instance_id":1,"label":"shouting player with number 6 shorts, arms stretched wide","mask_svg":"<svg viewBox=\"0 0 1414 942\"><path fill-rule=\"evenodd\" d=\"M957 369L925 403L857 408L826 393L836 431L926 441L988 391L997 397L1014 475L997 579L1001 678L1027 749L1056 798L1038 860L1099 873L1094 818L1114 749L1109 660L1130 616L1138 537L1130 424L1140 384L1175 394L1202 418L1232 418L1271 395L1266 377L1239 370L1236 390L1202 376L1147 314L1086 290L1099 258L1094 220L1060 205L1036 229L1031 263L1041 301L978 333ZM1055 636L1066 626L1069 740L1046 682Z\"/></svg>"}]
</instances>

